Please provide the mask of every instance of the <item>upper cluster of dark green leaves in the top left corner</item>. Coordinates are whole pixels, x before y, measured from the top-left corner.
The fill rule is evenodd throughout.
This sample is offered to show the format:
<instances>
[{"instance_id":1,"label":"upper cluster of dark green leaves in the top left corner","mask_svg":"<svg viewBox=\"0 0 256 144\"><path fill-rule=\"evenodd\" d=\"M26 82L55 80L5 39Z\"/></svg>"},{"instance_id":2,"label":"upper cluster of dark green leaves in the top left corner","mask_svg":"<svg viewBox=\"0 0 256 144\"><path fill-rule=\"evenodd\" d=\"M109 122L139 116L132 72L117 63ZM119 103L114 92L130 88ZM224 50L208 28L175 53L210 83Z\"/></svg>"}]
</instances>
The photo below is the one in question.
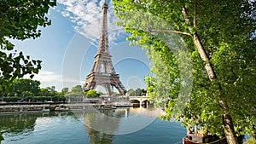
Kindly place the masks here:
<instances>
[{"instance_id":1,"label":"upper cluster of dark green leaves in the top left corner","mask_svg":"<svg viewBox=\"0 0 256 144\"><path fill-rule=\"evenodd\" d=\"M1 49L14 49L6 37L24 40L41 35L38 26L49 26L50 20L45 16L49 7L56 5L55 0L25 1L3 0L0 3L0 46Z\"/></svg>"}]
</instances>

